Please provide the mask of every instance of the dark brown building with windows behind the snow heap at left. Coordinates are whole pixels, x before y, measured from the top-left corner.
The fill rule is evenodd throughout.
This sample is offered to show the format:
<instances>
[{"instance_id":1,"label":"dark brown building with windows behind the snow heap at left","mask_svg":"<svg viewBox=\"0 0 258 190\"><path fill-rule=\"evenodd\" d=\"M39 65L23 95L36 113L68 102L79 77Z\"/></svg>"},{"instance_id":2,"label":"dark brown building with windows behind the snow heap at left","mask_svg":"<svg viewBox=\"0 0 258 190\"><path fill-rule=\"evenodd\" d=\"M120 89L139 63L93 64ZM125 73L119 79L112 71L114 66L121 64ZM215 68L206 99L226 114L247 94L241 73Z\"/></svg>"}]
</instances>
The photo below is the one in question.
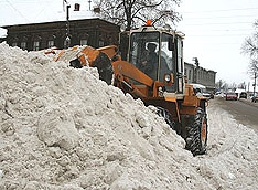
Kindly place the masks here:
<instances>
[{"instance_id":1,"label":"dark brown building with windows behind the snow heap at left","mask_svg":"<svg viewBox=\"0 0 258 190\"><path fill-rule=\"evenodd\" d=\"M10 46L37 51L56 46L74 45L100 48L118 44L120 27L111 22L94 19L55 21L1 27L8 30L6 38Z\"/></svg>"}]
</instances>

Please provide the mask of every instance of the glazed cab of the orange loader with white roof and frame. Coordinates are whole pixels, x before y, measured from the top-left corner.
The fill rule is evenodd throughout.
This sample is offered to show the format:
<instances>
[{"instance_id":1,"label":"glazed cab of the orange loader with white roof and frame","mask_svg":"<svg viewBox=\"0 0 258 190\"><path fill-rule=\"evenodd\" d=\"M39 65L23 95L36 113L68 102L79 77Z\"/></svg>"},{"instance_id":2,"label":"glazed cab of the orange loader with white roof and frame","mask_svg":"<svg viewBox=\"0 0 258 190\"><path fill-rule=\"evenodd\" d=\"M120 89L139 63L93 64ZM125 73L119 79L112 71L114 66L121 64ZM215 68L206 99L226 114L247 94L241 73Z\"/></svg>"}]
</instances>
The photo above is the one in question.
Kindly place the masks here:
<instances>
[{"instance_id":1,"label":"glazed cab of the orange loader with white roof and frame","mask_svg":"<svg viewBox=\"0 0 258 190\"><path fill-rule=\"evenodd\" d=\"M183 94L182 40L183 38L175 32L153 27L132 30L128 40L127 60L153 81L170 84L164 85L165 92Z\"/></svg>"}]
</instances>

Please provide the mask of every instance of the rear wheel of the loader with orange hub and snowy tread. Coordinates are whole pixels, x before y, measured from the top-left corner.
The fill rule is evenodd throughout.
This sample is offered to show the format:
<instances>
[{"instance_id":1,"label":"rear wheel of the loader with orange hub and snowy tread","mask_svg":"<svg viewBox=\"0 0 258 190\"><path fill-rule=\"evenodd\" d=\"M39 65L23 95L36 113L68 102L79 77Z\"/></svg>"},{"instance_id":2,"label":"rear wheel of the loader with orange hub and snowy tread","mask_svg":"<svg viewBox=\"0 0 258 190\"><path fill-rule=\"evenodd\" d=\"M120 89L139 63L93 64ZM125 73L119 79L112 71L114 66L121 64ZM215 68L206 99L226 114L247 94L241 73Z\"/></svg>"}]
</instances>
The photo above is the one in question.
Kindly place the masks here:
<instances>
[{"instance_id":1,"label":"rear wheel of the loader with orange hub and snowy tread","mask_svg":"<svg viewBox=\"0 0 258 190\"><path fill-rule=\"evenodd\" d=\"M206 152L207 146L207 116L206 113L198 108L193 117L192 126L189 127L185 148L193 156L203 155Z\"/></svg>"}]
</instances>

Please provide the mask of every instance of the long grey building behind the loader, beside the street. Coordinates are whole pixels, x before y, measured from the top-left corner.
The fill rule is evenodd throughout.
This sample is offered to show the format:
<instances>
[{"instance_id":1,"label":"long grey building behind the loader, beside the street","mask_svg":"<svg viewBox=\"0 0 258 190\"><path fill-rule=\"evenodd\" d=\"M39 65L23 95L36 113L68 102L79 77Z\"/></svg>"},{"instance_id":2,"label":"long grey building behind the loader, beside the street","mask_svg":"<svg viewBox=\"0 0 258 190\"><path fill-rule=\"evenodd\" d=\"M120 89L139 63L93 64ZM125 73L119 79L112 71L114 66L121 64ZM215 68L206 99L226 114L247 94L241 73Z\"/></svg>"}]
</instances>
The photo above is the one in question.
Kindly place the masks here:
<instances>
[{"instance_id":1,"label":"long grey building behind the loader, beside the street","mask_svg":"<svg viewBox=\"0 0 258 190\"><path fill-rule=\"evenodd\" d=\"M189 83L202 84L211 93L215 91L216 72L205 70L198 64L184 62L184 73L187 76Z\"/></svg>"}]
</instances>

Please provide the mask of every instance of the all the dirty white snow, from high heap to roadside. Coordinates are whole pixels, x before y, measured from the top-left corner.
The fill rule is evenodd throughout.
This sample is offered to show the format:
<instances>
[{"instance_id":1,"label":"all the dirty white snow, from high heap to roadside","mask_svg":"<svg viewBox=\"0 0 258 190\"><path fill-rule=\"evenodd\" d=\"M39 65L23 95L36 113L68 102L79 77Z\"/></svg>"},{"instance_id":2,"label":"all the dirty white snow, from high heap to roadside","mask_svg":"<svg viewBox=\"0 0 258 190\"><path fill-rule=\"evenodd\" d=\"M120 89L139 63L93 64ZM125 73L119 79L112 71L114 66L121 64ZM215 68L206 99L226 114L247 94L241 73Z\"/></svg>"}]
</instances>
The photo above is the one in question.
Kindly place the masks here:
<instances>
[{"instance_id":1,"label":"all the dirty white snow, from high heap to roadside","mask_svg":"<svg viewBox=\"0 0 258 190\"><path fill-rule=\"evenodd\" d=\"M208 107L193 157L157 116L95 68L0 44L1 190L258 189L258 137Z\"/></svg>"}]
</instances>

